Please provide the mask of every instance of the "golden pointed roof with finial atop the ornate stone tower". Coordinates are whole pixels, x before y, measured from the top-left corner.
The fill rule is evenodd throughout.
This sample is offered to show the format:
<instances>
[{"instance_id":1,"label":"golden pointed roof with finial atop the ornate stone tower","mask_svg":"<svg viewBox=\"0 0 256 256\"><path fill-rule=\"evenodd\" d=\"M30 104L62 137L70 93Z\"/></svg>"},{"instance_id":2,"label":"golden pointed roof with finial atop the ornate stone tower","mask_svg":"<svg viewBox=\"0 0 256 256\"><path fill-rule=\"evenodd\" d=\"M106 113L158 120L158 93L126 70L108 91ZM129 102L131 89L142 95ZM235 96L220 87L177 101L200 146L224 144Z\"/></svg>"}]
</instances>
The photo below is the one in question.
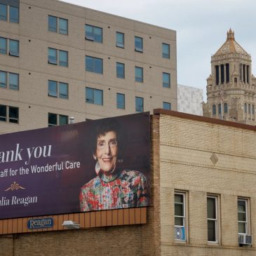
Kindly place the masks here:
<instances>
[{"instance_id":1,"label":"golden pointed roof with finial atop the ornate stone tower","mask_svg":"<svg viewBox=\"0 0 256 256\"><path fill-rule=\"evenodd\" d=\"M227 53L243 53L245 55L248 55L248 53L246 53L245 50L243 50L243 48L238 43L236 43L234 31L232 31L231 29L229 29L229 31L227 32L227 41L225 41L220 49L217 50L215 55L223 55Z\"/></svg>"}]
</instances>

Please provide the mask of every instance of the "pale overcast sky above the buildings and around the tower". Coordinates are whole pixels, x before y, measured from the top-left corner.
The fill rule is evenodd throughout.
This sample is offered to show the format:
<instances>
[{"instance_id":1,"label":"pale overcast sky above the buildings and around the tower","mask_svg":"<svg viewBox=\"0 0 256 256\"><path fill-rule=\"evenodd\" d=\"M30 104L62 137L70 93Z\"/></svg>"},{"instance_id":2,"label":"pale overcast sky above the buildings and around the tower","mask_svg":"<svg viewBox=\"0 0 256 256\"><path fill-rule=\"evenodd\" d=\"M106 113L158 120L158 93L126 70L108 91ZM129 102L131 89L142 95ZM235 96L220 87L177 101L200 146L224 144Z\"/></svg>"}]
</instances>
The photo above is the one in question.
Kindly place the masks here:
<instances>
[{"instance_id":1,"label":"pale overcast sky above the buildings and around the tower","mask_svg":"<svg viewBox=\"0 0 256 256\"><path fill-rule=\"evenodd\" d=\"M234 30L236 41L252 56L256 76L255 0L62 0L140 20L177 32L177 83L201 88L206 100L210 57Z\"/></svg>"}]
</instances>

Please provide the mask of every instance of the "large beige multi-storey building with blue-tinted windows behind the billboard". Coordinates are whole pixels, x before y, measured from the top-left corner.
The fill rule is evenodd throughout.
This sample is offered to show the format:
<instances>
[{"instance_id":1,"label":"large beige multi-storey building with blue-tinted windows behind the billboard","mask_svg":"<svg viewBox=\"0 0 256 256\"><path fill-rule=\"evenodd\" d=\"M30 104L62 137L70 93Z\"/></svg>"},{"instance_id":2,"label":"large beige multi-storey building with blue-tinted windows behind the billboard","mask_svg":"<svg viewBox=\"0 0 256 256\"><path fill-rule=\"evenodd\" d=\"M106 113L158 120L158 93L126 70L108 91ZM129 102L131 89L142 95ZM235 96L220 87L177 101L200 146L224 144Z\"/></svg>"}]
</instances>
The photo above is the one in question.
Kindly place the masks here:
<instances>
[{"instance_id":1,"label":"large beige multi-storey building with blue-tinted windows behind the billboard","mask_svg":"<svg viewBox=\"0 0 256 256\"><path fill-rule=\"evenodd\" d=\"M177 110L176 32L56 0L0 0L0 134Z\"/></svg>"}]
</instances>

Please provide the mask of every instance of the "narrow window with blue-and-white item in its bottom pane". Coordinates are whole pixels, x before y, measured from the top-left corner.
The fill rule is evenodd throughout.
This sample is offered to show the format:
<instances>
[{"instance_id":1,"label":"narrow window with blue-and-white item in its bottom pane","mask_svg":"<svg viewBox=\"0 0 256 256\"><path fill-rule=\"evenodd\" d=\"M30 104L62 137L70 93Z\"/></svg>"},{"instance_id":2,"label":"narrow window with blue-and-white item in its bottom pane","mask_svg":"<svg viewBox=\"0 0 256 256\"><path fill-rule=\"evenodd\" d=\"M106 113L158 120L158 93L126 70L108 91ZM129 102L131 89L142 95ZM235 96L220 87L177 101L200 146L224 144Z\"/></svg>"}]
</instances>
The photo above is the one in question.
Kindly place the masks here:
<instances>
[{"instance_id":1,"label":"narrow window with blue-and-white item in its bottom pane","mask_svg":"<svg viewBox=\"0 0 256 256\"><path fill-rule=\"evenodd\" d=\"M186 240L186 215L185 215L185 193L175 192L174 194L174 230L175 240Z\"/></svg>"}]
</instances>

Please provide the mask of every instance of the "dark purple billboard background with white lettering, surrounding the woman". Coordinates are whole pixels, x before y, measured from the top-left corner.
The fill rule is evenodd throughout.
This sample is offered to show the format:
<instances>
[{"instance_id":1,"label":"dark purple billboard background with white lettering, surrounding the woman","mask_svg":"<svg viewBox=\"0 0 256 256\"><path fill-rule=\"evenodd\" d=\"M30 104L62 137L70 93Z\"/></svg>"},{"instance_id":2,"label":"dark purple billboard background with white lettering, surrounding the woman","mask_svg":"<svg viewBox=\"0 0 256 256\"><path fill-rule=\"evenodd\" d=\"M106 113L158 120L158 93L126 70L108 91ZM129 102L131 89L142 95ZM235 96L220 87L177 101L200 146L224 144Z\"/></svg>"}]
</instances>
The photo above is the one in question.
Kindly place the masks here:
<instances>
[{"instance_id":1,"label":"dark purple billboard background with white lettering, surrounding the woman","mask_svg":"<svg viewBox=\"0 0 256 256\"><path fill-rule=\"evenodd\" d=\"M138 170L144 175L148 204L151 190L149 113L105 120L115 120L126 131L121 168ZM98 122L0 135L0 219L81 212L81 187L96 176L90 134ZM46 168L55 163L63 163L63 168L32 173L35 166Z\"/></svg>"}]
</instances>

